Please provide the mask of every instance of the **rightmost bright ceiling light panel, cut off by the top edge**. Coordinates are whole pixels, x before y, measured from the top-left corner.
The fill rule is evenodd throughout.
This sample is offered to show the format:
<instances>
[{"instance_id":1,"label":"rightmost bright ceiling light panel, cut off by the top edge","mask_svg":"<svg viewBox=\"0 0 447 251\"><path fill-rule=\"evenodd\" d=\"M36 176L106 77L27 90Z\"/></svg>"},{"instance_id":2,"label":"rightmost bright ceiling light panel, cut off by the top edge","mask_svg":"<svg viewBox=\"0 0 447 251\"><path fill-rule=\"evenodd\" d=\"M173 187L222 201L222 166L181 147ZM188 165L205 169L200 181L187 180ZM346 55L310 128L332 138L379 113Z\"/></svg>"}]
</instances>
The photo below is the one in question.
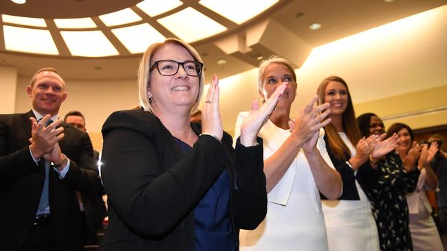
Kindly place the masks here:
<instances>
[{"instance_id":1,"label":"rightmost bright ceiling light panel, cut off by the top edge","mask_svg":"<svg viewBox=\"0 0 447 251\"><path fill-rule=\"evenodd\" d=\"M279 0L201 0L206 8L240 25L272 7ZM237 6L237 8L235 8Z\"/></svg>"}]
</instances>

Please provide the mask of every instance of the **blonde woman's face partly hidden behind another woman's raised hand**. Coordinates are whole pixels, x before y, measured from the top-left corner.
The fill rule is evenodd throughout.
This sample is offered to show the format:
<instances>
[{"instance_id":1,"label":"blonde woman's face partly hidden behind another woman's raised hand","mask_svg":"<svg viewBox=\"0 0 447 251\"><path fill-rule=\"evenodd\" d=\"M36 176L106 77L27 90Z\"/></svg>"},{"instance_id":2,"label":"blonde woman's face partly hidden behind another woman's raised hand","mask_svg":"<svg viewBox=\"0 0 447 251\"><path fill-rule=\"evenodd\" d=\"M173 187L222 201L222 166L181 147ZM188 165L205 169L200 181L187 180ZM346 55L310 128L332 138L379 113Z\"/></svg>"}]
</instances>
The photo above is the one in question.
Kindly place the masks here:
<instances>
[{"instance_id":1,"label":"blonde woman's face partly hidden behind another woman's raised hand","mask_svg":"<svg viewBox=\"0 0 447 251\"><path fill-rule=\"evenodd\" d=\"M290 69L285 64L272 63L265 69L262 80L263 88L259 90L259 95L264 100L272 95L277 86L283 82L289 82L276 108L290 108L296 95L296 82Z\"/></svg>"}]
</instances>

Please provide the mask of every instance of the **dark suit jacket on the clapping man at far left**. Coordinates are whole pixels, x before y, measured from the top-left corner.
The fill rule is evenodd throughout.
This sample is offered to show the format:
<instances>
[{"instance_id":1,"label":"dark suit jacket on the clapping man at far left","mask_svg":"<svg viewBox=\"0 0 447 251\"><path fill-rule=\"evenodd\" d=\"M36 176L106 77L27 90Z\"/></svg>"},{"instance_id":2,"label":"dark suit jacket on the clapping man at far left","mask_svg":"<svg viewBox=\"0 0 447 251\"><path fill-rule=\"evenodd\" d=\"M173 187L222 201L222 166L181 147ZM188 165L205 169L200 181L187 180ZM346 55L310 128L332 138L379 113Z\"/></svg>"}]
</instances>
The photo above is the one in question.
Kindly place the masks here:
<instances>
[{"instance_id":1,"label":"dark suit jacket on the clapping man at far left","mask_svg":"<svg viewBox=\"0 0 447 251\"><path fill-rule=\"evenodd\" d=\"M0 224L3 229L0 243L5 250L19 250L23 245L36 216L45 180L43 159L36 165L30 154L30 117L34 117L32 111L0 115ZM63 180L50 168L51 227L61 250L82 250L76 190L97 194L100 181L94 169L89 136L66 123L61 126L65 136L59 144L70 159L70 166Z\"/></svg>"}]
</instances>

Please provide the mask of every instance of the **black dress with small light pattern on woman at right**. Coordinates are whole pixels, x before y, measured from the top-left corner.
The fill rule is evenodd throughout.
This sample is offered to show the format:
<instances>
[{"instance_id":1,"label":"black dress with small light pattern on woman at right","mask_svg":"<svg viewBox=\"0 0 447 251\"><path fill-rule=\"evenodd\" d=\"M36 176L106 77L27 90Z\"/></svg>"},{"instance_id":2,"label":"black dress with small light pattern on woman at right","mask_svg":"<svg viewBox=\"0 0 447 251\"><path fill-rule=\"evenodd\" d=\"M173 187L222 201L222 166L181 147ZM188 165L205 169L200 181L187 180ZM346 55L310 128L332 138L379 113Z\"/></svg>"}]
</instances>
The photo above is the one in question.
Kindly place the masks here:
<instances>
[{"instance_id":1,"label":"black dress with small light pattern on woman at right","mask_svg":"<svg viewBox=\"0 0 447 251\"><path fill-rule=\"evenodd\" d=\"M379 232L380 250L411 251L406 193L415 190L420 171L406 172L397 152L380 160L379 180L370 194L373 215Z\"/></svg>"}]
</instances>

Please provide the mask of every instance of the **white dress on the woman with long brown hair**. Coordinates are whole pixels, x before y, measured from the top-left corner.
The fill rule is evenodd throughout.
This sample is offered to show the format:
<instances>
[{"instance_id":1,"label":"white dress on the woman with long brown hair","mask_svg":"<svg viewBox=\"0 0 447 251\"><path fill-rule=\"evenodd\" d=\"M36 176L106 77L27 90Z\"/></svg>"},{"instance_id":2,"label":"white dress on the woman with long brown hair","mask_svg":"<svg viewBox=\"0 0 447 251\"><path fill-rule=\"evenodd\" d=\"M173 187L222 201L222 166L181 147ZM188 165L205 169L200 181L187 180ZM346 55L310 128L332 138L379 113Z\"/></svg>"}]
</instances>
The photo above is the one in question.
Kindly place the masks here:
<instances>
[{"instance_id":1,"label":"white dress on the woman with long brown hair","mask_svg":"<svg viewBox=\"0 0 447 251\"><path fill-rule=\"evenodd\" d=\"M351 156L356 155L356 148L346 134L339 132ZM327 150L321 151L329 166L331 163ZM327 228L327 240L331 251L378 251L379 235L371 204L360 184L356 180L360 200L323 200L323 212Z\"/></svg>"}]
</instances>

